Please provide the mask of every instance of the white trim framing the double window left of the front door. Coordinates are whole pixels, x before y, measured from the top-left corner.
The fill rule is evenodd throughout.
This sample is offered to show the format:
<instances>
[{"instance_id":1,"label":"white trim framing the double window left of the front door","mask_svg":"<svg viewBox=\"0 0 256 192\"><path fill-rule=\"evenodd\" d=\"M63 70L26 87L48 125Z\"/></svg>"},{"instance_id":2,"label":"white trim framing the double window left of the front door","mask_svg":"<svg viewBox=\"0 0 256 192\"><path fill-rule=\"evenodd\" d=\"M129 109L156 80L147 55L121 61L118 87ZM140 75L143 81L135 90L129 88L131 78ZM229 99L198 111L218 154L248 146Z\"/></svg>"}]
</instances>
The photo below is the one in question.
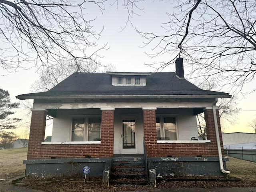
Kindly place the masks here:
<instances>
[{"instance_id":1,"label":"white trim framing the double window left of the front door","mask_svg":"<svg viewBox=\"0 0 256 192\"><path fill-rule=\"evenodd\" d=\"M72 141L72 123L73 123L73 119L77 119L77 118L84 118L84 141ZM96 141L87 141L88 140L88 122L89 122L89 118L101 118L101 115L79 115L79 116L70 116L70 134L69 134L69 141L67 142L72 142L72 144L91 144L91 142L96 142ZM100 138L101 138L101 123L100 123ZM82 143L80 143L82 142ZM90 143L84 143L84 142L90 142ZM100 143L100 141L97 141ZM48 142L46 142L48 143Z\"/></svg>"}]
</instances>

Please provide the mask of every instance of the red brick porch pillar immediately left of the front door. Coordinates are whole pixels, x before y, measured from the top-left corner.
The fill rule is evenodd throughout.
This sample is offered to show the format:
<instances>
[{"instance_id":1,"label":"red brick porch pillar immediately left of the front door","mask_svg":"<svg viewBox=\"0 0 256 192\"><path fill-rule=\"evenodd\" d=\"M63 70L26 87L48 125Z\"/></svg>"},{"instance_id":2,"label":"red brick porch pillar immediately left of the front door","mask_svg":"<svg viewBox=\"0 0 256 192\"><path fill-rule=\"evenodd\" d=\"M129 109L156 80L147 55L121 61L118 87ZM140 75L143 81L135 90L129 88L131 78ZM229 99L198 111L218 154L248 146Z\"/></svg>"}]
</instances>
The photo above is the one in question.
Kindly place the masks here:
<instances>
[{"instance_id":1,"label":"red brick porch pillar immediately left of the front door","mask_svg":"<svg viewBox=\"0 0 256 192\"><path fill-rule=\"evenodd\" d=\"M114 152L114 110L101 112L101 157L113 157Z\"/></svg>"}]
</instances>

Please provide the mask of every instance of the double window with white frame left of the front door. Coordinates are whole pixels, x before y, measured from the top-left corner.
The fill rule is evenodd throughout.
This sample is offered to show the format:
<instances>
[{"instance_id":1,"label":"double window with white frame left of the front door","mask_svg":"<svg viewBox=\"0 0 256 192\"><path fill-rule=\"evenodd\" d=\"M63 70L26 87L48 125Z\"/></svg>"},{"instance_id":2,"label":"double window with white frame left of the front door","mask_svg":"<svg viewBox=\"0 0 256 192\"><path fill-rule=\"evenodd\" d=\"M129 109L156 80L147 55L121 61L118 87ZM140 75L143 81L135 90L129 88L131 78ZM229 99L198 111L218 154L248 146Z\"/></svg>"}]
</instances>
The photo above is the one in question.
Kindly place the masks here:
<instances>
[{"instance_id":1,"label":"double window with white frame left of the front door","mask_svg":"<svg viewBox=\"0 0 256 192\"><path fill-rule=\"evenodd\" d=\"M73 118L71 141L99 140L101 118Z\"/></svg>"}]
</instances>

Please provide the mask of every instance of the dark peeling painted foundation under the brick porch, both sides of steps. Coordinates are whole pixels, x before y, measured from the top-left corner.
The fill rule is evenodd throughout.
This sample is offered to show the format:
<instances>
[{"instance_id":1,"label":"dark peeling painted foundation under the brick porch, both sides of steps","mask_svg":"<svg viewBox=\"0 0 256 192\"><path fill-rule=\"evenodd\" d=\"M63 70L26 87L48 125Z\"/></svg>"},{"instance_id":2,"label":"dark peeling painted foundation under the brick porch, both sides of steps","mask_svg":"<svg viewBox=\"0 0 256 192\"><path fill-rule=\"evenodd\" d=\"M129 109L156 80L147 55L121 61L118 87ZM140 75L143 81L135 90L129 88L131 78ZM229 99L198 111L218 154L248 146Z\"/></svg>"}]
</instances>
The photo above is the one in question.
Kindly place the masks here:
<instances>
[{"instance_id":1,"label":"dark peeling painted foundation under the brick porch, both sides of steps","mask_svg":"<svg viewBox=\"0 0 256 192\"><path fill-rule=\"evenodd\" d=\"M123 157L125 158L125 157ZM226 161L223 158L224 170ZM26 175L47 176L49 174L81 174L85 166L90 167L88 176L102 176L106 169L106 162L112 158L76 158L76 159L44 159L44 160L24 160L26 164ZM155 169L156 176L224 176L220 171L218 157L159 157L148 158L148 170Z\"/></svg>"}]
</instances>

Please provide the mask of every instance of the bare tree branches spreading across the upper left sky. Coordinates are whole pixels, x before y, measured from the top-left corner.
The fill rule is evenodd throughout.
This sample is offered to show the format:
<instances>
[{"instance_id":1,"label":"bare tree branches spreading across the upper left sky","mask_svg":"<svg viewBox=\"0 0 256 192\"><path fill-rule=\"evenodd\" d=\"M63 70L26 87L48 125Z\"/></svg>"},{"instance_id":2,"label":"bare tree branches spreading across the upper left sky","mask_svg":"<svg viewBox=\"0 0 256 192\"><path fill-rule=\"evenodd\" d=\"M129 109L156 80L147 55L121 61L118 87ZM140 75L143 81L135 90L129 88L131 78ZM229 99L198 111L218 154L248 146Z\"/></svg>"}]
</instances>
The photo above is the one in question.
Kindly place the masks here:
<instances>
[{"instance_id":1,"label":"bare tree branches spreading across the upper left sky","mask_svg":"<svg viewBox=\"0 0 256 192\"><path fill-rule=\"evenodd\" d=\"M86 8L102 12L106 1L0 0L0 67L12 72L63 58L94 62L96 52L106 45L88 51L101 31L92 29L95 18L86 15Z\"/></svg>"}]
</instances>

